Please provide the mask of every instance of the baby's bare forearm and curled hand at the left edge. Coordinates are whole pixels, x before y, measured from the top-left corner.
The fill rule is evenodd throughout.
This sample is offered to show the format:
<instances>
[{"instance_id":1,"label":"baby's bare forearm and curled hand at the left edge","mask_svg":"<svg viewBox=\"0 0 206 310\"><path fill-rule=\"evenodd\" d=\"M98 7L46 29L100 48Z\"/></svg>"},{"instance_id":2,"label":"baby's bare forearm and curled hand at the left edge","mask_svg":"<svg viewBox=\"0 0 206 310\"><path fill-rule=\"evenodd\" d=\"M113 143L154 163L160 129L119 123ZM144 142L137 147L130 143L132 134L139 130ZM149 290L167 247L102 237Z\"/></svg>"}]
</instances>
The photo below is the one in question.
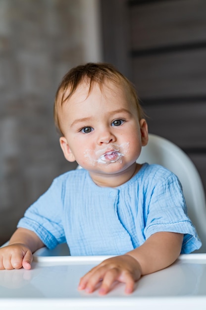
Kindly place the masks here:
<instances>
[{"instance_id":1,"label":"baby's bare forearm and curled hand at the left edge","mask_svg":"<svg viewBox=\"0 0 206 310\"><path fill-rule=\"evenodd\" d=\"M18 228L12 235L8 246L0 248L0 269L31 268L32 253L44 246L31 230Z\"/></svg>"}]
</instances>

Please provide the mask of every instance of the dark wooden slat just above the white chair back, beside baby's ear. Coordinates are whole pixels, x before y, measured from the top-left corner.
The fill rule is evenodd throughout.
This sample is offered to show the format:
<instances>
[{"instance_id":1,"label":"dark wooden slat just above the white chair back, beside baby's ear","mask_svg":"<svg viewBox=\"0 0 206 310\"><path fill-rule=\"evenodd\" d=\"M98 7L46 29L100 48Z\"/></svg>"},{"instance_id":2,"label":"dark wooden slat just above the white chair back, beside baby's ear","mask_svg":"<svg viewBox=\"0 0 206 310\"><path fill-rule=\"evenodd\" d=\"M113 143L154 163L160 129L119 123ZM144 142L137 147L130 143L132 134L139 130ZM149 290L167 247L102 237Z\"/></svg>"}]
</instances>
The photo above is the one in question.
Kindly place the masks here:
<instances>
[{"instance_id":1,"label":"dark wooden slat just above the white chair back, beside baby's ear","mask_svg":"<svg viewBox=\"0 0 206 310\"><path fill-rule=\"evenodd\" d=\"M183 149L206 149L206 102L146 106L149 132Z\"/></svg>"}]
</instances>

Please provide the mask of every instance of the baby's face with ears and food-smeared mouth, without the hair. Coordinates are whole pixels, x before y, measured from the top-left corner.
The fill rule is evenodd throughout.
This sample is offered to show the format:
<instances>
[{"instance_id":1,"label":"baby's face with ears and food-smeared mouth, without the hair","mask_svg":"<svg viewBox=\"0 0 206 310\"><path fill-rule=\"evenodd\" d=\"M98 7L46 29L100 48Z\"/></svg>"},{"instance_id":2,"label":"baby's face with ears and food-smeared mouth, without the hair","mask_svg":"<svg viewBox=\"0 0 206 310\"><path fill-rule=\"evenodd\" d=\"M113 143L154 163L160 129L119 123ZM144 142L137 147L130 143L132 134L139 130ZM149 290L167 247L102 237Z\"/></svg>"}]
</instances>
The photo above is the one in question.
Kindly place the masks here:
<instances>
[{"instance_id":1,"label":"baby's face with ears and food-smeared mouth, without the hair","mask_svg":"<svg viewBox=\"0 0 206 310\"><path fill-rule=\"evenodd\" d=\"M124 173L147 143L147 123L138 119L137 107L119 87L108 84L100 90L82 83L60 115L64 137L61 148L67 160L76 160L93 174Z\"/></svg>"}]
</instances>

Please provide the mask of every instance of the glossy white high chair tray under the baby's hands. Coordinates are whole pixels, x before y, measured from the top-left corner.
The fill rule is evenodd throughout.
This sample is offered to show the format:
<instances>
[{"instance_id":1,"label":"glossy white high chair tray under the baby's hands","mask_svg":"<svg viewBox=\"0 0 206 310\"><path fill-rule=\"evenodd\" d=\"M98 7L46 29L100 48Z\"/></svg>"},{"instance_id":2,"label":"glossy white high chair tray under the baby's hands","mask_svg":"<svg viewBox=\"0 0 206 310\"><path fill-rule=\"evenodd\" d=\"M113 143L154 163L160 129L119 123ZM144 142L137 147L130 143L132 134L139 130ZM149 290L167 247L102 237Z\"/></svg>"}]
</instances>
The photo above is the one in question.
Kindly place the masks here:
<instances>
[{"instance_id":1,"label":"glossy white high chair tray under the baby's hands","mask_svg":"<svg viewBox=\"0 0 206 310\"><path fill-rule=\"evenodd\" d=\"M68 251L62 249L37 251L31 270L0 270L0 309L206 310L206 254L181 255L170 267L142 277L131 295L124 293L124 284L116 284L100 296L77 286L107 257L61 256Z\"/></svg>"}]
</instances>

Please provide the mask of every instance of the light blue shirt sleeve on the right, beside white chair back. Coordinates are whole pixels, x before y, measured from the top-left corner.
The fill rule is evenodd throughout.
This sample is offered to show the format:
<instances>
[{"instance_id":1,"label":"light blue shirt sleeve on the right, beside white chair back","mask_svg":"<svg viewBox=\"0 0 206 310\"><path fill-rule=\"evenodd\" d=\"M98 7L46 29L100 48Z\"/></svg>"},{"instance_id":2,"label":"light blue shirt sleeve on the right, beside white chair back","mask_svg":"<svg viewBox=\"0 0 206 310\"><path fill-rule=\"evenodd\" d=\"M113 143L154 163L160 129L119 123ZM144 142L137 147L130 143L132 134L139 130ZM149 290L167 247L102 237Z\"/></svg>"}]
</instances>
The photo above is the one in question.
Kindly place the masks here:
<instances>
[{"instance_id":1,"label":"light blue shirt sleeve on the right, beside white chair back","mask_svg":"<svg viewBox=\"0 0 206 310\"><path fill-rule=\"evenodd\" d=\"M202 245L187 215L181 184L172 173L165 181L154 187L148 209L144 231L146 238L160 231L184 234L181 253L191 253Z\"/></svg>"}]
</instances>

